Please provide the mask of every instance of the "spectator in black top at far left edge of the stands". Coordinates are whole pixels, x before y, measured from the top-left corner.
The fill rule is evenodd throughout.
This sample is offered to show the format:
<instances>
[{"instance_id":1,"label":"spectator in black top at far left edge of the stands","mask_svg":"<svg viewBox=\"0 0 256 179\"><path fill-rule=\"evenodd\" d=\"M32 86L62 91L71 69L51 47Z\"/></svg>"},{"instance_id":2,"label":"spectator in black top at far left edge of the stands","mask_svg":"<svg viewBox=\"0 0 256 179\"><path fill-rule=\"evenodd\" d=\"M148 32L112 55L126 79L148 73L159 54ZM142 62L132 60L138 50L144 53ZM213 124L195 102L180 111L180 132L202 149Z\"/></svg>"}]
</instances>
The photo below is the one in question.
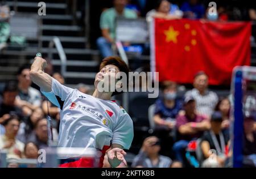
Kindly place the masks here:
<instances>
[{"instance_id":1,"label":"spectator in black top at far left edge of the stands","mask_svg":"<svg viewBox=\"0 0 256 179\"><path fill-rule=\"evenodd\" d=\"M20 109L15 103L16 95L18 95L18 87L16 83L7 83L3 90L3 101L0 104L1 134L5 133L5 130L3 130L3 126L1 124L10 118L10 114L15 114L23 120L22 109Z\"/></svg>"}]
</instances>

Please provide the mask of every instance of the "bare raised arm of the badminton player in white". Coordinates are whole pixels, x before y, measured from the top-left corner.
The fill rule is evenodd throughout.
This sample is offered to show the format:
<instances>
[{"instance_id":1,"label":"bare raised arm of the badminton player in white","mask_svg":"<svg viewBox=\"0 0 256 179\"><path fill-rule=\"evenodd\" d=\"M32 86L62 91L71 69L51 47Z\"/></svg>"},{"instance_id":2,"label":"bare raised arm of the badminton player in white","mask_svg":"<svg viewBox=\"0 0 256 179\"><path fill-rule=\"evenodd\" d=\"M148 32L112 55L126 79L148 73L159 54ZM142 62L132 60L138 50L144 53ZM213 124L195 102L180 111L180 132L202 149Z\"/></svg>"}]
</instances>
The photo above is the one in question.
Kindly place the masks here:
<instances>
[{"instance_id":1,"label":"bare raised arm of the badminton player in white","mask_svg":"<svg viewBox=\"0 0 256 179\"><path fill-rule=\"evenodd\" d=\"M43 91L50 92L52 90L52 77L47 73L44 73L44 68L46 66L47 62L45 59L35 57L35 60L31 65L30 76L32 82L37 84Z\"/></svg>"}]
</instances>

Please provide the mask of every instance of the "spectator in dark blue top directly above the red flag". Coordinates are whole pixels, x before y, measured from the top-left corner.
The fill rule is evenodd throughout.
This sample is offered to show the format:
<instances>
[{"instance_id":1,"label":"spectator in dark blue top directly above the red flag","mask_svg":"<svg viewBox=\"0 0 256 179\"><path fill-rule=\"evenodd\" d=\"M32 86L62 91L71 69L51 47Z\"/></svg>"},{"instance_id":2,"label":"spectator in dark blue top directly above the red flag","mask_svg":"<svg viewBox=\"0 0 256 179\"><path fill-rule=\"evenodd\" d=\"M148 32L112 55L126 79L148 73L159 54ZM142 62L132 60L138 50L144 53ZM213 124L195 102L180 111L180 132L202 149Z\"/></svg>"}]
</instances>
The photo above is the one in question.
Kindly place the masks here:
<instances>
[{"instance_id":1,"label":"spectator in dark blue top directly above the red flag","mask_svg":"<svg viewBox=\"0 0 256 179\"><path fill-rule=\"evenodd\" d=\"M189 0L181 5L180 10L184 13L184 18L200 19L204 16L204 6L198 0Z\"/></svg>"}]
</instances>

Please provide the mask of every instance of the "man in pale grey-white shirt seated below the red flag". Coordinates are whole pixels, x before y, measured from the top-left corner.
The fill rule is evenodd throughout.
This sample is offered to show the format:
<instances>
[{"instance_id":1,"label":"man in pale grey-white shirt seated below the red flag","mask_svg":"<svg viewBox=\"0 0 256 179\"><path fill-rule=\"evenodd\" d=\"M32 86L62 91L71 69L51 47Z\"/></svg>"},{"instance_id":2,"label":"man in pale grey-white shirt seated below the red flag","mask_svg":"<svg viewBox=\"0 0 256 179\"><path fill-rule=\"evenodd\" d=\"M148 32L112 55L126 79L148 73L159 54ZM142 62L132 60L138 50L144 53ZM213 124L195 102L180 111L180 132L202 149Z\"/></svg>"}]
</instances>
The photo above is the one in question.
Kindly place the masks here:
<instances>
[{"instance_id":1,"label":"man in pale grey-white shirt seated below the red flag","mask_svg":"<svg viewBox=\"0 0 256 179\"><path fill-rule=\"evenodd\" d=\"M192 90L185 93L185 97L191 96L195 99L197 113L209 118L218 102L218 96L213 91L208 91L208 76L204 71L195 75L193 86Z\"/></svg>"}]
</instances>

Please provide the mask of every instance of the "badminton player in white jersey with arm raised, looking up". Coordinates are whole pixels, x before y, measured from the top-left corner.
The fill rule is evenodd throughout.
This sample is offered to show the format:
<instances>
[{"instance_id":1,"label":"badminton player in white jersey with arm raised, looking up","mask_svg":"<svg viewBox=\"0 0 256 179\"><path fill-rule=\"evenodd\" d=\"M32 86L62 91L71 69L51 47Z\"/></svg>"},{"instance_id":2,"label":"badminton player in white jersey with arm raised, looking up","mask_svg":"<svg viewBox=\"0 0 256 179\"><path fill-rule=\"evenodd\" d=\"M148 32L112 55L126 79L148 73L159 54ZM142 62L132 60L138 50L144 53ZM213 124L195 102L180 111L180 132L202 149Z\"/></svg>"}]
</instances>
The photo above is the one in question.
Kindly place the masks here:
<instances>
[{"instance_id":1,"label":"badminton player in white jersey with arm raised, looking up","mask_svg":"<svg viewBox=\"0 0 256 179\"><path fill-rule=\"evenodd\" d=\"M123 148L129 149L133 140L133 122L114 101L111 96L118 92L100 92L98 83L104 84L106 79L113 78L118 72L128 76L129 69L119 57L106 57L100 64L93 95L86 95L76 89L63 86L53 79L44 68L45 59L35 57L30 75L32 81L40 87L40 91L60 108L59 147L96 148L102 152L100 167L104 156L108 156L111 167L126 167ZM115 84L121 87L120 79L114 77ZM105 157L106 158L106 157ZM93 167L90 161L65 159L60 167ZM70 162L67 162L70 161Z\"/></svg>"}]
</instances>

